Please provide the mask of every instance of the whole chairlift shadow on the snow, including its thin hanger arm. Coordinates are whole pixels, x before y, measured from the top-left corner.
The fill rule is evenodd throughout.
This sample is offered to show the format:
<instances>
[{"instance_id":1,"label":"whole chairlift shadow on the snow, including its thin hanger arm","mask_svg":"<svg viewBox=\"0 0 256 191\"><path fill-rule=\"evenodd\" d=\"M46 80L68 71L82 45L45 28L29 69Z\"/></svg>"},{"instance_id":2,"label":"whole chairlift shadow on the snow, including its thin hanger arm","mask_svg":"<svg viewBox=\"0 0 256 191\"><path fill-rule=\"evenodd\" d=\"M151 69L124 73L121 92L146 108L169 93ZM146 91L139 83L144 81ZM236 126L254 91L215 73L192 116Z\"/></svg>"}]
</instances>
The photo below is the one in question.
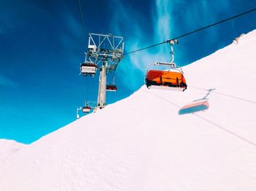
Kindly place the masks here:
<instances>
[{"instance_id":1,"label":"whole chairlift shadow on the snow, including its thin hanger arm","mask_svg":"<svg viewBox=\"0 0 256 191\"><path fill-rule=\"evenodd\" d=\"M215 90L215 88L209 89L208 93L203 96L203 98L197 99L195 101L192 101L192 103L183 106L180 110L178 110L178 114L191 114L195 112L202 112L208 109L208 95L210 95L211 91L213 90Z\"/></svg>"}]
</instances>

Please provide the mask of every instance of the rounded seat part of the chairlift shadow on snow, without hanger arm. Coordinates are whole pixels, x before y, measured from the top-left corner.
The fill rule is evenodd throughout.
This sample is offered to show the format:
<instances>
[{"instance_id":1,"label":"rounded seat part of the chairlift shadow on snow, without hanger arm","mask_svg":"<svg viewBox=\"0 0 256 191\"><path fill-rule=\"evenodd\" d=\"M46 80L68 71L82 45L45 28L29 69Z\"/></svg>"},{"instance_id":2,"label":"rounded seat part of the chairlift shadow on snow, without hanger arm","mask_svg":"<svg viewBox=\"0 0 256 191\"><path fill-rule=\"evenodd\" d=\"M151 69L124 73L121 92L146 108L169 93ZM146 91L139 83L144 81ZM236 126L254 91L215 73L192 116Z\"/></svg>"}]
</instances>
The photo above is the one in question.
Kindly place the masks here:
<instances>
[{"instance_id":1,"label":"rounded seat part of the chairlift shadow on snow, without hanger arm","mask_svg":"<svg viewBox=\"0 0 256 191\"><path fill-rule=\"evenodd\" d=\"M197 101L182 107L180 110L178 110L178 114L191 114L195 112L204 111L208 108L209 108L208 100Z\"/></svg>"}]
</instances>

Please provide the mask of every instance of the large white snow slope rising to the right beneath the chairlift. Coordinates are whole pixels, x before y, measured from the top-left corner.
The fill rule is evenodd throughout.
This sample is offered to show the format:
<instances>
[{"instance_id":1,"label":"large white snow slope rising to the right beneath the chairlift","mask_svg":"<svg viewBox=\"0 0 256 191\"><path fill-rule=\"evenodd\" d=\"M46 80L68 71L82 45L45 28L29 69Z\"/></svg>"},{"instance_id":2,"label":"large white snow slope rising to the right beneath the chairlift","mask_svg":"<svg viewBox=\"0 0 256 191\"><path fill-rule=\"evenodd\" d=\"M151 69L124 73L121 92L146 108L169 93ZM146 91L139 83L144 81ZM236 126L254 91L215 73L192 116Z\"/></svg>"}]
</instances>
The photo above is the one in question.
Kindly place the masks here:
<instances>
[{"instance_id":1,"label":"large white snow slope rising to the right beneath the chairlift","mask_svg":"<svg viewBox=\"0 0 256 191\"><path fill-rule=\"evenodd\" d=\"M22 147L0 190L256 190L255 52L256 30L184 67L184 93L143 86Z\"/></svg>"}]
</instances>

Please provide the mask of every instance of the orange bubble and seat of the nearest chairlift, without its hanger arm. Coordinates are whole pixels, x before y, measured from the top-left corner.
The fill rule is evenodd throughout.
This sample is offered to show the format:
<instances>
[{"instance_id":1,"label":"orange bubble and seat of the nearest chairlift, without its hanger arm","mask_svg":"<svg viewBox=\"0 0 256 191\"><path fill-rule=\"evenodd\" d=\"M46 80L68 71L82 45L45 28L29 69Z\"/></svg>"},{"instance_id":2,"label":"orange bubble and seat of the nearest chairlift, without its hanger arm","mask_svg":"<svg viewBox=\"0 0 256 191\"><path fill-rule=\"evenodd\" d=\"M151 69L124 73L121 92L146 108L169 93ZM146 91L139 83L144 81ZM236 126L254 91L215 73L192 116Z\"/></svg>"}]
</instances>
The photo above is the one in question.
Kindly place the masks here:
<instances>
[{"instance_id":1,"label":"orange bubble and seat of the nearest chairlift, without its hanger arm","mask_svg":"<svg viewBox=\"0 0 256 191\"><path fill-rule=\"evenodd\" d=\"M176 71L150 70L146 74L145 81L148 88L182 91L187 89L184 75Z\"/></svg>"}]
</instances>

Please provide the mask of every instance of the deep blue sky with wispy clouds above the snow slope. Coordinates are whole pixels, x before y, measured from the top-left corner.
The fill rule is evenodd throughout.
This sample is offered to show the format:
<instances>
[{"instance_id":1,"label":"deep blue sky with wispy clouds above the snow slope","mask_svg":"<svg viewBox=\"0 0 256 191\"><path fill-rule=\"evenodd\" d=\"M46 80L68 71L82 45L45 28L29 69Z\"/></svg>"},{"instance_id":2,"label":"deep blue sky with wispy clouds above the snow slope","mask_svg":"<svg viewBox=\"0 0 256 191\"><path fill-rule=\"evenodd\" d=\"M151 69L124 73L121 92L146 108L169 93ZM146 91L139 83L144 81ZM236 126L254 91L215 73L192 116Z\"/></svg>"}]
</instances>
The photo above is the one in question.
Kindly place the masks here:
<instances>
[{"instance_id":1,"label":"deep blue sky with wispy clouds above the snow slope","mask_svg":"<svg viewBox=\"0 0 256 191\"><path fill-rule=\"evenodd\" d=\"M255 0L80 1L86 33L124 36L126 52L256 7ZM0 139L29 144L75 120L86 98L96 101L98 77L79 76L88 36L76 0L0 0L0 12ZM252 12L180 39L176 63L225 47L255 29L255 20ZM116 71L118 92L108 93L107 102L143 85L148 63L168 61L169 49L162 44L125 56Z\"/></svg>"}]
</instances>

